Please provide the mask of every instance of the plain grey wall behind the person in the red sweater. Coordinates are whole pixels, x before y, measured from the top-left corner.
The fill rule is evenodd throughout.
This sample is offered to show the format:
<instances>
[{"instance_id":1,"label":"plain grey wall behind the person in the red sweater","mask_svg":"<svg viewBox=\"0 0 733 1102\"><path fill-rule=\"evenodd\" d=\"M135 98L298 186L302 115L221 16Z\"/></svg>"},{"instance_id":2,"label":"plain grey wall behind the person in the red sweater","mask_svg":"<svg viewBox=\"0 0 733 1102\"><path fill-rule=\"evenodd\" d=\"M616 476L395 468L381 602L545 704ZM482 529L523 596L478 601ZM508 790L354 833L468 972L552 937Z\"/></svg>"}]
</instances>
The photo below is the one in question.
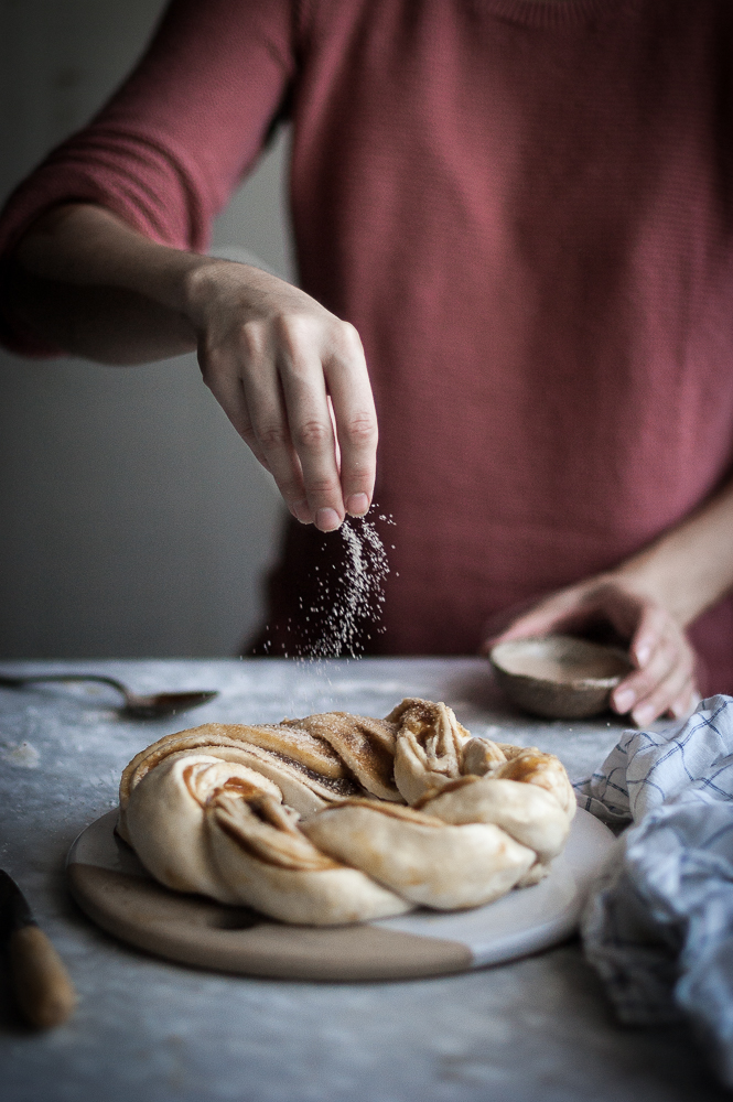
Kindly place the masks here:
<instances>
[{"instance_id":1,"label":"plain grey wall behind the person in the red sweater","mask_svg":"<svg viewBox=\"0 0 733 1102\"><path fill-rule=\"evenodd\" d=\"M0 196L83 125L163 0L0 0ZM287 134L214 245L293 279ZM0 658L216 656L257 624L283 508L194 356L144 367L0 350Z\"/></svg>"}]
</instances>

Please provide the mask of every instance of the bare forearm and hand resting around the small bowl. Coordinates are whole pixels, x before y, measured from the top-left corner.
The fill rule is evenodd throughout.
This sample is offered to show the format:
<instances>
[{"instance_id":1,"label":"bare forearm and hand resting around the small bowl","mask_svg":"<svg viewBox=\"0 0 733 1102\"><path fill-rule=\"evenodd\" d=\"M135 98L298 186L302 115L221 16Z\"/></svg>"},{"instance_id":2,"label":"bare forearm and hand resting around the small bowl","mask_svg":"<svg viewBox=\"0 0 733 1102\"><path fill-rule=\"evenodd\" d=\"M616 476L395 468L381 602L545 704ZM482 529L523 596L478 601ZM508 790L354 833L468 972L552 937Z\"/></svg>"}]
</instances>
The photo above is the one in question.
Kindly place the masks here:
<instances>
[{"instance_id":1,"label":"bare forearm and hand resting around the small bowl","mask_svg":"<svg viewBox=\"0 0 733 1102\"><path fill-rule=\"evenodd\" d=\"M699 699L686 628L733 588L733 478L677 527L612 571L543 597L516 616L497 642L582 630L607 620L629 642L635 669L612 706L639 726L686 715Z\"/></svg>"}]
</instances>

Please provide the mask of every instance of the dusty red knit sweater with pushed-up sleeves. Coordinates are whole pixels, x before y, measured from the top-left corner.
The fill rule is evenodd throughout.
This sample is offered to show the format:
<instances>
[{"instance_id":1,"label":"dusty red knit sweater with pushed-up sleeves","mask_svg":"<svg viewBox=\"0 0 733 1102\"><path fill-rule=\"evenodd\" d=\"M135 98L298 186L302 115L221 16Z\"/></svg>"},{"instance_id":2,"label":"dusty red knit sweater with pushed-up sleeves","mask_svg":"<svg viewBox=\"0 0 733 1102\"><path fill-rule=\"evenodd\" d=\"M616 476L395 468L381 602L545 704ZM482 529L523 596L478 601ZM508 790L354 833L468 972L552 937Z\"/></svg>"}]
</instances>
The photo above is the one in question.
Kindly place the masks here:
<instances>
[{"instance_id":1,"label":"dusty red knit sweater with pushed-up sleeves","mask_svg":"<svg viewBox=\"0 0 733 1102\"><path fill-rule=\"evenodd\" d=\"M724 0L175 0L0 245L77 198L205 249L289 114L301 285L362 335L396 521L371 649L472 652L730 472L732 74ZM339 540L287 543L276 651ZM693 638L733 691L730 602Z\"/></svg>"}]
</instances>

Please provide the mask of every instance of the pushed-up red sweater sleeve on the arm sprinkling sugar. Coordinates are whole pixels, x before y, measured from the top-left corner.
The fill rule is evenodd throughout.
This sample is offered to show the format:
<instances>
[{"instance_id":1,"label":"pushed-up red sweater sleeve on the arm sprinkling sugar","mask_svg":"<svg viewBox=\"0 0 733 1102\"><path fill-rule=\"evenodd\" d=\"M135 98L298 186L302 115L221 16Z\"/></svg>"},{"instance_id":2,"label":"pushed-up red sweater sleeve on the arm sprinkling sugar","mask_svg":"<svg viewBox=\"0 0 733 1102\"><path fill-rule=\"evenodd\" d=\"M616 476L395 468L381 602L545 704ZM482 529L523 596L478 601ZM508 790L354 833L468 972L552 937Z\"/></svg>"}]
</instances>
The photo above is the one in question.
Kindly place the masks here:
<instances>
[{"instance_id":1,"label":"pushed-up red sweater sleeve on the arm sprinkling sugar","mask_svg":"<svg viewBox=\"0 0 733 1102\"><path fill-rule=\"evenodd\" d=\"M0 264L39 216L97 203L154 241L203 251L294 74L291 0L172 0L137 68L0 215ZM0 318L0 341L56 355Z\"/></svg>"}]
</instances>

